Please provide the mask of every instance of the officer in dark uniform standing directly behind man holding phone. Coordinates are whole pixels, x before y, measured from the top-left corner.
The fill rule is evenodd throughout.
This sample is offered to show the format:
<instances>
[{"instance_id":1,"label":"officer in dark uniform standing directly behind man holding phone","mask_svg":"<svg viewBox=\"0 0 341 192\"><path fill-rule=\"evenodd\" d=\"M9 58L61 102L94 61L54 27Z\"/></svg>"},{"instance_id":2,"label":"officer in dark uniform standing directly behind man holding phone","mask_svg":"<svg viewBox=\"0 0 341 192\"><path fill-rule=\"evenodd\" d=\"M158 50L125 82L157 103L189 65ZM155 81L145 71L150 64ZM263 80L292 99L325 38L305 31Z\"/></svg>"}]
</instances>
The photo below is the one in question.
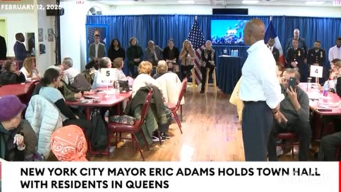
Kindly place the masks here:
<instances>
[{"instance_id":1,"label":"officer in dark uniform standing directly behind man holding phone","mask_svg":"<svg viewBox=\"0 0 341 192\"><path fill-rule=\"evenodd\" d=\"M306 74L304 67L304 50L298 47L298 40L293 39L293 46L286 51L286 68L294 68L301 74ZM305 78L301 76L301 82L305 82Z\"/></svg>"}]
</instances>

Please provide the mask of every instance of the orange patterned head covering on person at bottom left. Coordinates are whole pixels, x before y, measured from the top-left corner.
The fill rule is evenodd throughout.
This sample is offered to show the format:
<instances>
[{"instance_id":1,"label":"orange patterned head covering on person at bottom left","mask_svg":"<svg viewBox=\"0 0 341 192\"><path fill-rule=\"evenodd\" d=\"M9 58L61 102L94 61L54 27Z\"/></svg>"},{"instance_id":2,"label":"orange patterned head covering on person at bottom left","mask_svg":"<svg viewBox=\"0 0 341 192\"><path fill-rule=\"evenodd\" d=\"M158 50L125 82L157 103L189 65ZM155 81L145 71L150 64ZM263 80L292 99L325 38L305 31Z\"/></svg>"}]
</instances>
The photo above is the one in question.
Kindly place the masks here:
<instances>
[{"instance_id":1,"label":"orange patterned head covering on person at bottom left","mask_svg":"<svg viewBox=\"0 0 341 192\"><path fill-rule=\"evenodd\" d=\"M77 125L72 124L55 130L50 144L59 161L87 161L87 139Z\"/></svg>"}]
</instances>

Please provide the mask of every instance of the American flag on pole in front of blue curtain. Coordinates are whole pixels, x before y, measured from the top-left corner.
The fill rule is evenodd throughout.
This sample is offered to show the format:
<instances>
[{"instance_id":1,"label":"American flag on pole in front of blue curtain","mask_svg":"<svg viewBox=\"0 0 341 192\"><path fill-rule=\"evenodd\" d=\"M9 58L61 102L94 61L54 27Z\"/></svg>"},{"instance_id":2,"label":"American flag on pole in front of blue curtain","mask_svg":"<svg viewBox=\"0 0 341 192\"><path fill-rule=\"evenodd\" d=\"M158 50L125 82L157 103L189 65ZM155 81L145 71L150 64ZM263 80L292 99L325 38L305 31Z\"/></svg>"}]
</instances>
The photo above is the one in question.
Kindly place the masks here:
<instances>
[{"instance_id":1,"label":"American flag on pole in front of blue curtain","mask_svg":"<svg viewBox=\"0 0 341 192\"><path fill-rule=\"evenodd\" d=\"M201 51L205 48L205 38L202 35L202 31L197 25L197 20L195 19L192 28L190 29L190 33L188 34L188 41L190 41L195 50L195 79L196 82L201 82L201 71L200 71L200 60L201 60Z\"/></svg>"}]
</instances>

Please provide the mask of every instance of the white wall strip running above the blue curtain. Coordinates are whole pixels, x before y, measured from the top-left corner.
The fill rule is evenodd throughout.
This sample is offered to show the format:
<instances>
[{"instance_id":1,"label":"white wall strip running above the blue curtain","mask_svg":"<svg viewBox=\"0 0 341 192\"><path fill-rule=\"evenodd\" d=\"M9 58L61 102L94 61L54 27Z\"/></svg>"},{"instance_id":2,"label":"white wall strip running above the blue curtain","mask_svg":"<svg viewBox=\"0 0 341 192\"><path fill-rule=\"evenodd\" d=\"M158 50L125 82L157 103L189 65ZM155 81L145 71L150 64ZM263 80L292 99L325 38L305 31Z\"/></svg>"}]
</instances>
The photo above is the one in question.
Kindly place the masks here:
<instances>
[{"instance_id":1,"label":"white wall strip running above the blue curtain","mask_svg":"<svg viewBox=\"0 0 341 192\"><path fill-rule=\"evenodd\" d=\"M222 6L209 5L183 5L183 6L111 6L115 15L140 15L140 14L197 14L210 15L213 8ZM226 6L226 8L249 9L253 16L328 16L341 17L340 7L316 6Z\"/></svg>"}]
</instances>

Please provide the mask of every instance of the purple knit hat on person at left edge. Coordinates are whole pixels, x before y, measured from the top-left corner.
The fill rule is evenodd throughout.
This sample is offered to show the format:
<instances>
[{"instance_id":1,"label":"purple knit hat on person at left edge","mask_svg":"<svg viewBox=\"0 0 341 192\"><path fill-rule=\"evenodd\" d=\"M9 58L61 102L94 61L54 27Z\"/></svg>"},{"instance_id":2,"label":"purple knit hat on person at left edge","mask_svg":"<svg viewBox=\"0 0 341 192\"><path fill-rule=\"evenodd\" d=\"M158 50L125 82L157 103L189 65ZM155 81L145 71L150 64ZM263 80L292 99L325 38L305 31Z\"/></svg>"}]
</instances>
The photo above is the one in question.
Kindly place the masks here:
<instances>
[{"instance_id":1,"label":"purple knit hat on person at left edge","mask_svg":"<svg viewBox=\"0 0 341 192\"><path fill-rule=\"evenodd\" d=\"M15 95L0 97L0 122L13 119L25 108L26 105L22 104Z\"/></svg>"}]
</instances>

